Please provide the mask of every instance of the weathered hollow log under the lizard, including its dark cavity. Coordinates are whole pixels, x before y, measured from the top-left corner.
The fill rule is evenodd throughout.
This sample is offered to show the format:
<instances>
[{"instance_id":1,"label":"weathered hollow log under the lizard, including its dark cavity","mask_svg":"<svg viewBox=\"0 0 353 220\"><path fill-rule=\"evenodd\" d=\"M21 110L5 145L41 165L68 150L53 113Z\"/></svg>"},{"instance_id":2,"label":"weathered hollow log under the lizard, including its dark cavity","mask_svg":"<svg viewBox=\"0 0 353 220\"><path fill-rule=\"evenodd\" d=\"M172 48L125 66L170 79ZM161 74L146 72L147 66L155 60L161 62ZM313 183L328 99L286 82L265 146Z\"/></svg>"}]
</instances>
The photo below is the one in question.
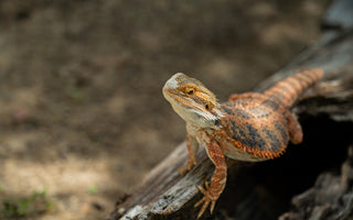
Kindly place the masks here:
<instances>
[{"instance_id":1,"label":"weathered hollow log under the lizard, including its dark cavity","mask_svg":"<svg viewBox=\"0 0 353 220\"><path fill-rule=\"evenodd\" d=\"M295 106L304 141L264 163L239 163L228 172L215 213L203 219L350 219L353 216L353 18L352 1L336 1L323 26L330 29L309 50L255 90L269 88L298 68L327 75ZM351 7L351 10L347 10ZM346 11L346 12L344 12ZM333 29L332 29L333 28ZM351 146L350 146L351 145ZM153 168L132 195L117 202L111 219L195 219L193 205L214 167L204 151L184 177L185 143ZM296 196L298 195L298 196Z\"/></svg>"}]
</instances>

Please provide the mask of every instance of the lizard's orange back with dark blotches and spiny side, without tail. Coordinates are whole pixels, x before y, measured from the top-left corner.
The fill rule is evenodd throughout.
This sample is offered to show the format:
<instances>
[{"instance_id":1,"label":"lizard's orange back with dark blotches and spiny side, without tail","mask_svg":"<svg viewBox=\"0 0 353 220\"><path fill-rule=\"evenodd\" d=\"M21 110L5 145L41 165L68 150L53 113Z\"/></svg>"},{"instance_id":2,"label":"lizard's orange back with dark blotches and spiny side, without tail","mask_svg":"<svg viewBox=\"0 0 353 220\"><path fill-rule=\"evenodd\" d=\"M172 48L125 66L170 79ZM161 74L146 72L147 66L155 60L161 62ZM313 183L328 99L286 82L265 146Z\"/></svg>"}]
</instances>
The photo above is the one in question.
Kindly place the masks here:
<instances>
[{"instance_id":1,"label":"lizard's orange back with dark blotches and spiny side, without tail","mask_svg":"<svg viewBox=\"0 0 353 220\"><path fill-rule=\"evenodd\" d=\"M223 136L227 139L217 141L224 146L224 153L242 161L280 156L286 150L289 134L286 117L278 111L280 105L261 95L223 103L226 117L221 124L225 132Z\"/></svg>"}]
</instances>

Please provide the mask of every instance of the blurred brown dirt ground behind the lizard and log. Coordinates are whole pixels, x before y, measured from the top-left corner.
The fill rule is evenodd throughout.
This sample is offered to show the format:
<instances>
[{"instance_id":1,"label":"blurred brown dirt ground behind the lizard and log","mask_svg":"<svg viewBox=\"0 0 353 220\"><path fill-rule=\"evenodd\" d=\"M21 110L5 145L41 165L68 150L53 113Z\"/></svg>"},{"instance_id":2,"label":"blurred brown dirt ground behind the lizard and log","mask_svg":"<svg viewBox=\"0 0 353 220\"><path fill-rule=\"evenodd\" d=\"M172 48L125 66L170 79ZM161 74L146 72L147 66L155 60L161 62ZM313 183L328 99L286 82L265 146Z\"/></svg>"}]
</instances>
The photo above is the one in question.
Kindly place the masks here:
<instances>
[{"instance_id":1,"label":"blurred brown dirt ground behind the lizard and log","mask_svg":"<svg viewBox=\"0 0 353 220\"><path fill-rule=\"evenodd\" d=\"M161 95L220 100L320 35L329 1L0 1L0 219L105 219L184 140Z\"/></svg>"}]
</instances>

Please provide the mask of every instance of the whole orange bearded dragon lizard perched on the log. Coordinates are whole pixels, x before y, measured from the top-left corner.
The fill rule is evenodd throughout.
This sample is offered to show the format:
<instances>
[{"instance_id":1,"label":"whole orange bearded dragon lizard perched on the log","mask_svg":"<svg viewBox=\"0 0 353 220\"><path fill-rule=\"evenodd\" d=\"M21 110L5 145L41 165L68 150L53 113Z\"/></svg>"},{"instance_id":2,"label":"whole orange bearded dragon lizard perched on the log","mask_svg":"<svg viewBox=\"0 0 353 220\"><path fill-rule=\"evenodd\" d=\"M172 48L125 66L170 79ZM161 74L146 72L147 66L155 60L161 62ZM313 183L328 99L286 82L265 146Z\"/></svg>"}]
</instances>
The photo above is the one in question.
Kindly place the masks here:
<instances>
[{"instance_id":1,"label":"whole orange bearded dragon lizard perched on the log","mask_svg":"<svg viewBox=\"0 0 353 220\"><path fill-rule=\"evenodd\" d=\"M289 108L297 98L323 77L321 69L310 69L279 81L264 94L232 95L225 103L203 84L184 74L173 75L163 87L163 95L174 111L186 122L189 160L179 169L181 175L195 164L199 144L205 147L215 165L211 184L197 186L204 197L197 219L211 204L211 213L222 194L227 176L224 156L238 161L260 162L280 156L289 140L302 142L302 130Z\"/></svg>"}]
</instances>

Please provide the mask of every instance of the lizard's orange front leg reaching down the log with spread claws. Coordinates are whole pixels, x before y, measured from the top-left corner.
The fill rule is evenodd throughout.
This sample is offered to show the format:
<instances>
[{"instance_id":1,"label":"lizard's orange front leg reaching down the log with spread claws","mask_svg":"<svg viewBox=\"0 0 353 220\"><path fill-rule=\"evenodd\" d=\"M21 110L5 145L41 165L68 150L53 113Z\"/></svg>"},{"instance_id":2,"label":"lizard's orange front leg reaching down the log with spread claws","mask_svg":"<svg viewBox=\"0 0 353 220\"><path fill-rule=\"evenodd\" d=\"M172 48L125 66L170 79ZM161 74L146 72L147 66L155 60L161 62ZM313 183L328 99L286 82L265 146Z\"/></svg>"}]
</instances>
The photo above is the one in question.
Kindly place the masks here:
<instances>
[{"instance_id":1,"label":"lizard's orange front leg reaching down the log with spread claws","mask_svg":"<svg viewBox=\"0 0 353 220\"><path fill-rule=\"evenodd\" d=\"M197 204L195 204L195 207L203 204L197 215L197 219L206 210L210 202L211 202L211 207L210 207L211 213L213 212L215 202L218 199L220 195L222 194L225 187L226 178L227 178L227 165L225 163L225 158L220 145L216 142L211 141L206 144L206 152L210 160L215 165L215 170L211 178L210 186L207 182L205 183L205 189L201 186L197 186L200 191L204 195L204 197Z\"/></svg>"}]
</instances>

